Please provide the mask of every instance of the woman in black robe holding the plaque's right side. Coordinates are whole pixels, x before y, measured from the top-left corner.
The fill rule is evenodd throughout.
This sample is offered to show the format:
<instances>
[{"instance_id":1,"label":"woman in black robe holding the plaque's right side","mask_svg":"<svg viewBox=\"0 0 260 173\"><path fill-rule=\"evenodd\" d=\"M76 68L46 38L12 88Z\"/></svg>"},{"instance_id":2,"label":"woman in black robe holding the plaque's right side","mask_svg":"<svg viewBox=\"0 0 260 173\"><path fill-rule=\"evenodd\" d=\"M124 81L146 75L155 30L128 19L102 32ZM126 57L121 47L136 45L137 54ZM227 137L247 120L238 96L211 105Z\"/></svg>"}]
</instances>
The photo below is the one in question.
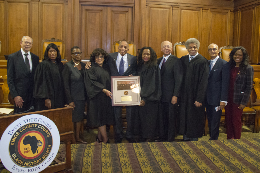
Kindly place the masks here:
<instances>
[{"instance_id":1,"label":"woman in black robe holding the plaque's right side","mask_svg":"<svg viewBox=\"0 0 260 173\"><path fill-rule=\"evenodd\" d=\"M135 106L133 131L142 138L138 142L152 141L158 134L160 122L159 103L161 99L161 72L157 65L157 55L151 47L143 47L137 58L137 72L140 76L142 98L140 105ZM140 125L138 121L140 119ZM161 128L163 128L161 126ZM139 131L139 132L138 132Z\"/></svg>"}]
</instances>

